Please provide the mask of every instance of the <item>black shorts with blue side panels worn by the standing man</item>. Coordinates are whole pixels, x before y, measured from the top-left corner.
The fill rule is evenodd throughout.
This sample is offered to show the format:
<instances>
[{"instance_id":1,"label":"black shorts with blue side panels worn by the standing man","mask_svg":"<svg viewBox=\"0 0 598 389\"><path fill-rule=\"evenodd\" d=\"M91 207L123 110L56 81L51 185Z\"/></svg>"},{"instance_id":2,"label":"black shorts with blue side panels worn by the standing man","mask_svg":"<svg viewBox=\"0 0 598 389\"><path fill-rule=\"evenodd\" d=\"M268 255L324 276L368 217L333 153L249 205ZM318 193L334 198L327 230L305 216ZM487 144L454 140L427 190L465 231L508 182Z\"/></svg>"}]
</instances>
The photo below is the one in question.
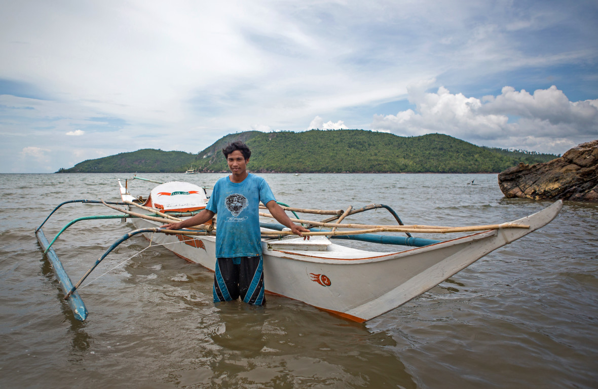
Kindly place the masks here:
<instances>
[{"instance_id":1,"label":"black shorts with blue side panels worn by the standing man","mask_svg":"<svg viewBox=\"0 0 598 389\"><path fill-rule=\"evenodd\" d=\"M216 258L214 302L240 298L248 304L263 305L264 263L260 256Z\"/></svg>"}]
</instances>

